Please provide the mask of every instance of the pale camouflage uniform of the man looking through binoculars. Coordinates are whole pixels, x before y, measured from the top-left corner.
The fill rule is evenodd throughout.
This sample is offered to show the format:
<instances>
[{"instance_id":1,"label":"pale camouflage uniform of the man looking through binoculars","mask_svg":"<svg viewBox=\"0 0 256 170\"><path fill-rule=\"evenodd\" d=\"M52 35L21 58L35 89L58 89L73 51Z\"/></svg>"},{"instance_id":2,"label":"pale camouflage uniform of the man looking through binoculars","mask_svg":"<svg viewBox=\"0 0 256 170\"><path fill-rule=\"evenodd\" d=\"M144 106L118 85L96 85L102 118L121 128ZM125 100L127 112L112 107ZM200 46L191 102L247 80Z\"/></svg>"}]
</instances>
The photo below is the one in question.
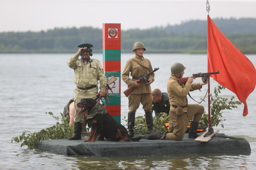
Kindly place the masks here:
<instances>
[{"instance_id":1,"label":"pale camouflage uniform of the man looking through binoculars","mask_svg":"<svg viewBox=\"0 0 256 170\"><path fill-rule=\"evenodd\" d=\"M78 115L79 108L77 107L77 103L81 101L81 99L84 98L95 98L98 94L99 87L98 82L100 82L100 92L106 91L106 76L104 74L104 71L102 69L102 66L99 62L99 60L96 59L90 59L90 62L81 62L81 60L78 59L79 53L76 53L74 56L72 56L68 60L68 66L75 71L75 80L74 83L76 83L77 87L74 89L75 92L75 117L74 122L83 122L83 114ZM92 89L88 90L81 90L80 88L87 88L87 87L93 87Z\"/></svg>"}]
</instances>

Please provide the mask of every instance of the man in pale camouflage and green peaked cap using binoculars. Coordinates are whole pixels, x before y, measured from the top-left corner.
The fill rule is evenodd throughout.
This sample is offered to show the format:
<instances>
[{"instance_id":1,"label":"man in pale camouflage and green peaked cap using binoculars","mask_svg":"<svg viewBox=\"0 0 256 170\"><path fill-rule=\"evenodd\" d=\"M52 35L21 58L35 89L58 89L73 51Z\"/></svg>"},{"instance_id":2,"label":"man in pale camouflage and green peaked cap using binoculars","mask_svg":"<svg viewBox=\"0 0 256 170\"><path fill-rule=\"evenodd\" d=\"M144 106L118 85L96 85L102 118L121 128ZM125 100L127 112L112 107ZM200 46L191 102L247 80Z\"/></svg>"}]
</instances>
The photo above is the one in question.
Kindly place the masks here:
<instances>
[{"instance_id":1,"label":"man in pale camouflage and green peaked cap using binoculars","mask_svg":"<svg viewBox=\"0 0 256 170\"><path fill-rule=\"evenodd\" d=\"M74 89L75 97L75 116L74 116L74 136L69 138L70 140L81 139L82 124L84 120L83 114L78 114L79 108L77 103L79 103L84 98L95 98L97 94L100 97L106 95L106 76L102 69L99 60L91 59L92 47L93 45L84 43L79 46L77 53L68 60L68 66L74 69L76 88ZM81 55L81 59L79 58ZM100 83L100 92L98 83Z\"/></svg>"}]
</instances>

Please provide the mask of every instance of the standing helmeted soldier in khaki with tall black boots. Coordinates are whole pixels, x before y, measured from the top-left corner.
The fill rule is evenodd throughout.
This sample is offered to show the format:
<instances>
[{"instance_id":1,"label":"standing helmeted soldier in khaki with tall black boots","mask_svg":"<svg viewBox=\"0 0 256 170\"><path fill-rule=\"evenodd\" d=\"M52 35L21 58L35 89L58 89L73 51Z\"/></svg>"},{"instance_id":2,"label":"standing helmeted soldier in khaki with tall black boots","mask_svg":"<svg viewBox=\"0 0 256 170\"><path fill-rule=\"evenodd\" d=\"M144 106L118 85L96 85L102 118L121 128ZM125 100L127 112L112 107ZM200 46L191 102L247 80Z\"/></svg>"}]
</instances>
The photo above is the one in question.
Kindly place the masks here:
<instances>
[{"instance_id":1,"label":"standing helmeted soldier in khaki with tall black boots","mask_svg":"<svg viewBox=\"0 0 256 170\"><path fill-rule=\"evenodd\" d=\"M130 136L134 136L134 122L135 113L139 108L140 103L143 105L143 110L146 115L146 122L148 127L148 133L152 134L153 131L153 117L152 117L152 97L150 84L154 81L154 73L148 75L147 82L145 80L139 81L138 78L145 76L153 71L151 62L143 57L143 53L146 50L145 46L141 42L136 42L132 46L132 52L135 53L135 57L129 59L126 62L124 71L122 73L122 80L133 90L128 96L129 99L129 113L128 113L128 133ZM132 78L129 78L131 73Z\"/></svg>"}]
</instances>

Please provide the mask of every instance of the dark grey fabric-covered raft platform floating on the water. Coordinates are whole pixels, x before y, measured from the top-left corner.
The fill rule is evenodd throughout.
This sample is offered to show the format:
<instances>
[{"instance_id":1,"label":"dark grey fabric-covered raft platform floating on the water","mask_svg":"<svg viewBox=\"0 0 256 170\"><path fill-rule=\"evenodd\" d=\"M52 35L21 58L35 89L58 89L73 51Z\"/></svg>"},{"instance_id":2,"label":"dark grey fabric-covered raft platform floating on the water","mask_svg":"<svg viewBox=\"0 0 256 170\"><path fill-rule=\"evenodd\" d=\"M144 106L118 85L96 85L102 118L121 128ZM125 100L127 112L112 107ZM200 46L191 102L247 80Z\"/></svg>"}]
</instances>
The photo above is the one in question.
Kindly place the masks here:
<instances>
[{"instance_id":1,"label":"dark grey fabric-covered raft platform floating on the water","mask_svg":"<svg viewBox=\"0 0 256 170\"><path fill-rule=\"evenodd\" d=\"M207 136L205 136L207 137ZM185 134L182 141L165 139L140 141L95 141L84 142L84 139L70 141L68 139L51 139L41 141L37 147L47 152L62 155L90 156L138 156L138 155L173 155L184 153L221 153L250 154L250 144L244 138L233 138L225 134L216 134L207 143L189 139Z\"/></svg>"}]
</instances>

